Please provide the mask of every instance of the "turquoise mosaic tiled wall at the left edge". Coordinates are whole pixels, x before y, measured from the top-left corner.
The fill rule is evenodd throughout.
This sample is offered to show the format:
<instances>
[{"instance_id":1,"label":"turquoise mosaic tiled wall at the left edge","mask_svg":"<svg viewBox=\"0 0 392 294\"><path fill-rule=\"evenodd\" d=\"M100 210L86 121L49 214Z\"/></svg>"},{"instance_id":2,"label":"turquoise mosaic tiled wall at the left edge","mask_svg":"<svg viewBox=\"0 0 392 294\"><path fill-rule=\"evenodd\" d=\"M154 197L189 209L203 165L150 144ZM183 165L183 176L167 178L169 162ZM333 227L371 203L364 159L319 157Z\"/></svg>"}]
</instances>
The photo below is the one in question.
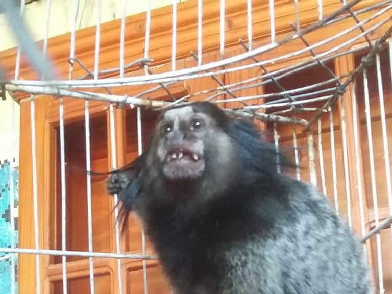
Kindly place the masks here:
<instances>
[{"instance_id":1,"label":"turquoise mosaic tiled wall at the left edge","mask_svg":"<svg viewBox=\"0 0 392 294\"><path fill-rule=\"evenodd\" d=\"M7 160L0 160L0 247L11 247L11 222L10 222L10 179L14 186L14 220L15 244L18 243L18 168L11 171ZM9 254L0 252L0 293L11 293L11 259ZM15 274L17 280L17 257L15 256ZM15 287L16 288L16 287Z\"/></svg>"}]
</instances>

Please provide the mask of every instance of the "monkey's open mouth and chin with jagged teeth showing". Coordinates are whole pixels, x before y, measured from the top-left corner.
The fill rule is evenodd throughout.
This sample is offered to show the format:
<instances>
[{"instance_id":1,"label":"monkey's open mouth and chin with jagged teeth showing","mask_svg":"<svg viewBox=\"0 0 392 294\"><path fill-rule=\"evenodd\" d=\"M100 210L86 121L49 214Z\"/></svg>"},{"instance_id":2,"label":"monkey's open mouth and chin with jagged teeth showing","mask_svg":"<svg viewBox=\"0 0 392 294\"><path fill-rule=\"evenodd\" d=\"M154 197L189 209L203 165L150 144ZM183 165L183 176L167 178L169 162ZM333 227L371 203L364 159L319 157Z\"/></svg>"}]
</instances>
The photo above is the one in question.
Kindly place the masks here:
<instances>
[{"instance_id":1,"label":"monkey's open mouth and chin with jagged teeth showing","mask_svg":"<svg viewBox=\"0 0 392 294\"><path fill-rule=\"evenodd\" d=\"M187 148L171 148L166 155L164 175L170 180L195 179L204 171L202 154Z\"/></svg>"}]
</instances>

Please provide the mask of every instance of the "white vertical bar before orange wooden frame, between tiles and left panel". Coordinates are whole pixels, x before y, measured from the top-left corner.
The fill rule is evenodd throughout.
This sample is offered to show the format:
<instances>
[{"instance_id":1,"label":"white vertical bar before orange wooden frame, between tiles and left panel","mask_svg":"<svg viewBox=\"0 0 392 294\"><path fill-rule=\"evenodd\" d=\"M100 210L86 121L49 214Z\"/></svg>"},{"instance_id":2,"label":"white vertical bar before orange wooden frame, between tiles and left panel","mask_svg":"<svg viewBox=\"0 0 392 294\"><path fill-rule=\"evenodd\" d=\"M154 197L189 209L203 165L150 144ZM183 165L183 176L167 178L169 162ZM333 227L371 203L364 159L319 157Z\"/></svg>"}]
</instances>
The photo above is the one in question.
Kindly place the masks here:
<instances>
[{"instance_id":1,"label":"white vertical bar before orange wooden frame, between tiles and left panel","mask_svg":"<svg viewBox=\"0 0 392 294\"><path fill-rule=\"evenodd\" d=\"M34 243L35 249L39 250L39 227L38 227L38 188L37 188L37 144L35 137L35 97L30 100L31 118L31 153L32 153L32 176L33 176L33 214L34 214ZM39 255L35 254L35 279L36 292L41 293L41 277Z\"/></svg>"}]
</instances>

